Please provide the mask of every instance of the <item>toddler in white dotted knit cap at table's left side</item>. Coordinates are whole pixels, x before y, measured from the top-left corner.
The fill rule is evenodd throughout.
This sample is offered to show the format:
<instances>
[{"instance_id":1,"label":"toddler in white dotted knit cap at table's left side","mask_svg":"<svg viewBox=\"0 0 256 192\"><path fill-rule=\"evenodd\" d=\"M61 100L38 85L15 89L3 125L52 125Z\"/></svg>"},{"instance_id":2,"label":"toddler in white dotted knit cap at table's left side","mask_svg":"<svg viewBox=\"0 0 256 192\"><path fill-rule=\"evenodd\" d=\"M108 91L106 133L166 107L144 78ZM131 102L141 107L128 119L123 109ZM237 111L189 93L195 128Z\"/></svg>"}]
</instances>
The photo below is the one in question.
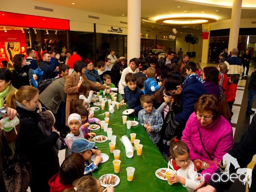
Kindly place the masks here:
<instances>
[{"instance_id":1,"label":"toddler in white dotted knit cap at table's left side","mask_svg":"<svg viewBox=\"0 0 256 192\"><path fill-rule=\"evenodd\" d=\"M84 133L80 129L82 124L81 116L77 113L70 114L68 118L68 126L70 133L66 135L65 142L68 148L66 148L65 158L71 154L71 145L74 140L82 138L84 139Z\"/></svg>"}]
</instances>

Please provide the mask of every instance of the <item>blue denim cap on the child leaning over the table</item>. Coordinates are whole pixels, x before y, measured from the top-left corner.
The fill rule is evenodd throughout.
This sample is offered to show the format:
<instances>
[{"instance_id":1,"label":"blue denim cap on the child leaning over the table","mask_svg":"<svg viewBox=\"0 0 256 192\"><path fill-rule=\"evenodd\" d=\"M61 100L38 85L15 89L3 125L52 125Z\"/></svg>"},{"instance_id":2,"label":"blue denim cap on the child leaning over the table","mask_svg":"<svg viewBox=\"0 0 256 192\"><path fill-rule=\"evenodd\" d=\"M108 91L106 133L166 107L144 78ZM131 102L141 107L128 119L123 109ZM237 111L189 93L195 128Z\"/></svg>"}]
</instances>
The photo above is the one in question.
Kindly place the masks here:
<instances>
[{"instance_id":1,"label":"blue denim cap on the child leaning over the table","mask_svg":"<svg viewBox=\"0 0 256 192\"><path fill-rule=\"evenodd\" d=\"M72 143L71 152L72 153L82 153L86 150L93 148L94 145L95 145L95 142L90 142L87 139L76 139Z\"/></svg>"}]
</instances>

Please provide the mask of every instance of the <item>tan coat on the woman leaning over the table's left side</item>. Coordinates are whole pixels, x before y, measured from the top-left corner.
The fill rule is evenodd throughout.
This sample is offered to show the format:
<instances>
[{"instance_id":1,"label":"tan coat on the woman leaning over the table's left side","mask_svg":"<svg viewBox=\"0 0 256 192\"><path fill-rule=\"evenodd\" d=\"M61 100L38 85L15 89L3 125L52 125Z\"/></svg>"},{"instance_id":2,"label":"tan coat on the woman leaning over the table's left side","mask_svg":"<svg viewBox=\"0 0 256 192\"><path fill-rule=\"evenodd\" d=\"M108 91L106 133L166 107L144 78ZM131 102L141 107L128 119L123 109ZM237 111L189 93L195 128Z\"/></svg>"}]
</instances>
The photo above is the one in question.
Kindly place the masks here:
<instances>
[{"instance_id":1,"label":"tan coat on the woman leaning over the table's left side","mask_svg":"<svg viewBox=\"0 0 256 192\"><path fill-rule=\"evenodd\" d=\"M80 77L78 76L78 74L76 72L68 75L66 77L66 82L65 82L65 86L64 86L64 91L67 95L67 99L66 99L66 126L68 126L68 117L69 117L69 111L70 111L70 101L73 99L78 99L78 82L80 80ZM82 75L82 81L88 83L89 85L91 85L91 89L95 89L95 90L104 90L106 89L105 85L100 85L98 83L94 83L90 80L87 79L87 77L85 75Z\"/></svg>"}]
</instances>

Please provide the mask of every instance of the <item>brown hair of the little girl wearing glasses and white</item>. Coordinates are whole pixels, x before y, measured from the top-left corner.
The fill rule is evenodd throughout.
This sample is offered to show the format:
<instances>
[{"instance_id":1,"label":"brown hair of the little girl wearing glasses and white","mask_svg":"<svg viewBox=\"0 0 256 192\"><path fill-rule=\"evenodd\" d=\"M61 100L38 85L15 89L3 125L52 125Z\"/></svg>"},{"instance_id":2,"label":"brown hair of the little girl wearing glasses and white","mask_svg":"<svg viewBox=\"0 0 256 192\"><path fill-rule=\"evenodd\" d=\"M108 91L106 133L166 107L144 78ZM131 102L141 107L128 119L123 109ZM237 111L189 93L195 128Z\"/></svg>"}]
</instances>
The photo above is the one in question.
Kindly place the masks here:
<instances>
[{"instance_id":1,"label":"brown hair of the little girl wearing glasses and white","mask_svg":"<svg viewBox=\"0 0 256 192\"><path fill-rule=\"evenodd\" d=\"M184 155L186 153L189 154L187 144L176 137L172 138L170 141L170 159L175 159L178 155Z\"/></svg>"}]
</instances>

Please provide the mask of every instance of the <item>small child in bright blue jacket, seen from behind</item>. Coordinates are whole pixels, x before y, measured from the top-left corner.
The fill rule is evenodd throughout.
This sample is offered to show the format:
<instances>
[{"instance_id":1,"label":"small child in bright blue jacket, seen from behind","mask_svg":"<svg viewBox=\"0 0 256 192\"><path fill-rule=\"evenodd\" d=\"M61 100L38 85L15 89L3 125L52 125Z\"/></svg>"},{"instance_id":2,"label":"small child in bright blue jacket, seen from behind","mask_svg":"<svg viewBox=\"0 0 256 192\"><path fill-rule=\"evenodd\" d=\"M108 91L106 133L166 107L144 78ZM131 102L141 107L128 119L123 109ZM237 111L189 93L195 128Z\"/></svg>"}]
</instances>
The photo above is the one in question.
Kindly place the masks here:
<instances>
[{"instance_id":1,"label":"small child in bright blue jacket, seen from behind","mask_svg":"<svg viewBox=\"0 0 256 192\"><path fill-rule=\"evenodd\" d=\"M144 81L144 94L151 95L154 91L157 91L162 86L162 82L157 82L155 80L156 77L156 70L153 67L149 67L146 70L146 81Z\"/></svg>"}]
</instances>

